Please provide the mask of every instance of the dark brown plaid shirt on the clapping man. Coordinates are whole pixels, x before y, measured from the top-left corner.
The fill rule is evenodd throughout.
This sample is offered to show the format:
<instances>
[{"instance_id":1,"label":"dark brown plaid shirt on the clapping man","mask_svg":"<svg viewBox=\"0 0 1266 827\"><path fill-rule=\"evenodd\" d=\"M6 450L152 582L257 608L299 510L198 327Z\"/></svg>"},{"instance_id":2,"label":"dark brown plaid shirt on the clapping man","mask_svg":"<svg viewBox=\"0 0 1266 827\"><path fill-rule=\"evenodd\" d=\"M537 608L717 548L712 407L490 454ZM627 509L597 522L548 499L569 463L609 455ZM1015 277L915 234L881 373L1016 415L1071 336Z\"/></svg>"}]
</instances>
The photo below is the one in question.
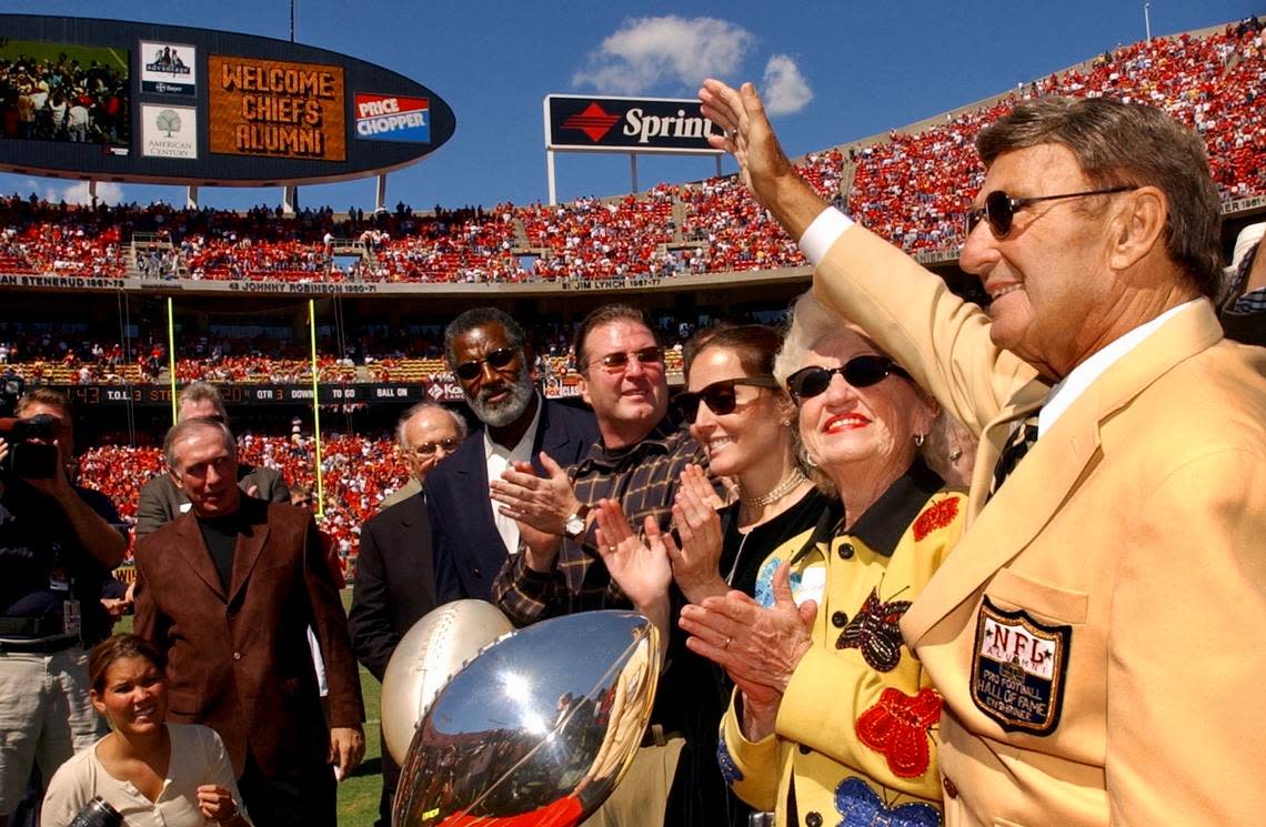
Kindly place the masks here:
<instances>
[{"instance_id":1,"label":"dark brown plaid shirt on the clapping man","mask_svg":"<svg viewBox=\"0 0 1266 827\"><path fill-rule=\"evenodd\" d=\"M708 467L703 448L663 420L627 450L609 451L595 443L567 474L580 502L594 507L603 498L618 499L634 530L641 532L649 515L667 531L681 472L690 463ZM524 554L511 555L492 583L492 602L518 626L589 610L630 608L601 560L596 529L590 524L580 540L563 537L552 572L533 572Z\"/></svg>"}]
</instances>

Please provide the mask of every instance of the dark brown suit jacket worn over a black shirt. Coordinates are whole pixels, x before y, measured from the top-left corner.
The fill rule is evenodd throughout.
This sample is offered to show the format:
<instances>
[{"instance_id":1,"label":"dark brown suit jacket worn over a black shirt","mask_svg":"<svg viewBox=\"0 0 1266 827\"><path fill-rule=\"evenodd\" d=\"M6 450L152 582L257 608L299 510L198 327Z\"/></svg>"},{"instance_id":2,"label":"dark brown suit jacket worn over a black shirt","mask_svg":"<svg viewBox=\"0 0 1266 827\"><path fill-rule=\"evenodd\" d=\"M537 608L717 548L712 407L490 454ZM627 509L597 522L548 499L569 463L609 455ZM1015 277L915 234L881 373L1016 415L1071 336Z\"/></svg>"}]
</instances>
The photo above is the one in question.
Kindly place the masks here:
<instances>
[{"instance_id":1,"label":"dark brown suit jacket worn over a black shirt","mask_svg":"<svg viewBox=\"0 0 1266 827\"><path fill-rule=\"evenodd\" d=\"M137 545L135 632L167 654L167 720L220 733L233 769L247 751L268 778L323 764L329 732L308 647L325 659L329 725L360 726L361 687L311 513L242 498L224 593L192 512Z\"/></svg>"}]
</instances>

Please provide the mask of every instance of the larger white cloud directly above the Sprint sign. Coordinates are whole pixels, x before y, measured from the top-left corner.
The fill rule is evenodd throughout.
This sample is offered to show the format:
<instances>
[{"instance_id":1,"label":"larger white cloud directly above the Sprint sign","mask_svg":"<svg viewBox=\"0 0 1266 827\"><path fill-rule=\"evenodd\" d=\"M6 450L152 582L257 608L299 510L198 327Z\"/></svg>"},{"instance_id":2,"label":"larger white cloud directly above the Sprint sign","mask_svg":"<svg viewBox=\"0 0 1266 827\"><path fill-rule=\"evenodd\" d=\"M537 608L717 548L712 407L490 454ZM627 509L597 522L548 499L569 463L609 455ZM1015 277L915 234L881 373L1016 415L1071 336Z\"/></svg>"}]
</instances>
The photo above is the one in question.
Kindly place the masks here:
<instances>
[{"instance_id":1,"label":"larger white cloud directly above the Sprint sign","mask_svg":"<svg viewBox=\"0 0 1266 827\"><path fill-rule=\"evenodd\" d=\"M755 42L747 29L717 18L630 19L571 82L606 95L643 95L667 83L694 94L706 77L733 77Z\"/></svg>"}]
</instances>

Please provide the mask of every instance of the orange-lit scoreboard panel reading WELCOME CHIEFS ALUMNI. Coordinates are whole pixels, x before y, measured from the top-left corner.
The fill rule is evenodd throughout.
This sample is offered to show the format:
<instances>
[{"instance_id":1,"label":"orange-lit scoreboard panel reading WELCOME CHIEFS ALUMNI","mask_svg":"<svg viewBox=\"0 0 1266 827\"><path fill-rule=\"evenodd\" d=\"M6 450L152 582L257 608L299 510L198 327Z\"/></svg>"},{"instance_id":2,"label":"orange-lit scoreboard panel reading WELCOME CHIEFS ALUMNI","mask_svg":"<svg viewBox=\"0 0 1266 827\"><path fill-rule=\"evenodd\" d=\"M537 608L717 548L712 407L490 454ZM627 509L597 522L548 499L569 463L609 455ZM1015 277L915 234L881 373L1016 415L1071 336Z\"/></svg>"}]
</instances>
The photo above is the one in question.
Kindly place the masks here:
<instances>
[{"instance_id":1,"label":"orange-lit scoreboard panel reading WELCOME CHIEFS ALUMNI","mask_svg":"<svg viewBox=\"0 0 1266 827\"><path fill-rule=\"evenodd\" d=\"M343 68L211 54L210 149L344 161Z\"/></svg>"}]
</instances>

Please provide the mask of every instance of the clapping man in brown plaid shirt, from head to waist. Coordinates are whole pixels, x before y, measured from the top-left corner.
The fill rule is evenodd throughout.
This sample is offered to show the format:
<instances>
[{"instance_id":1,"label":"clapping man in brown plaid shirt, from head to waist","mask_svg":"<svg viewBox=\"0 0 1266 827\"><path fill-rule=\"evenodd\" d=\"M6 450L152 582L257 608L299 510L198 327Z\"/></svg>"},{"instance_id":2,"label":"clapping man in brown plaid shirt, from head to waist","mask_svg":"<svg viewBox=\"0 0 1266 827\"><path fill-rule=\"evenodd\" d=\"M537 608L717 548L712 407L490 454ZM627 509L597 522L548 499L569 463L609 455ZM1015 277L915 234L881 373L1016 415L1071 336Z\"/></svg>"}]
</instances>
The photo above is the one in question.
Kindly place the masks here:
<instances>
[{"instance_id":1,"label":"clapping man in brown plaid shirt, from head to waist","mask_svg":"<svg viewBox=\"0 0 1266 827\"><path fill-rule=\"evenodd\" d=\"M492 584L492 601L519 626L594 608L630 608L606 573L594 537L592 507L615 499L633 526L653 517L668 530L681 472L706 467L703 449L667 419L663 349L642 312L605 305L576 334L581 396L594 407L601 439L570 469L541 459L492 481L501 513L523 540Z\"/></svg>"}]
</instances>

